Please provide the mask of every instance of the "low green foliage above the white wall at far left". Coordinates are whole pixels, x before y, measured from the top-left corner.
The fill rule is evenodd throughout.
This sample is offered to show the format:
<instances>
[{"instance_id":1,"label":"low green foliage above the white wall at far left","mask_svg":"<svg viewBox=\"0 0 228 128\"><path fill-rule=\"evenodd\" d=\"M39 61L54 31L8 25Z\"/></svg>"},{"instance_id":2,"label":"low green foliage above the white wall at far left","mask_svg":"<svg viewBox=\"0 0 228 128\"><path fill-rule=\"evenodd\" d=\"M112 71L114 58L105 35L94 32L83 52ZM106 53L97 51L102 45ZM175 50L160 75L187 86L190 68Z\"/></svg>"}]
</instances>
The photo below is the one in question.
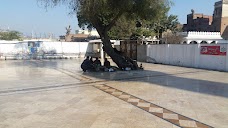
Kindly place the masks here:
<instances>
[{"instance_id":1,"label":"low green foliage above the white wall at far left","mask_svg":"<svg viewBox=\"0 0 228 128\"><path fill-rule=\"evenodd\" d=\"M0 32L0 40L20 40L21 33L18 31Z\"/></svg>"}]
</instances>

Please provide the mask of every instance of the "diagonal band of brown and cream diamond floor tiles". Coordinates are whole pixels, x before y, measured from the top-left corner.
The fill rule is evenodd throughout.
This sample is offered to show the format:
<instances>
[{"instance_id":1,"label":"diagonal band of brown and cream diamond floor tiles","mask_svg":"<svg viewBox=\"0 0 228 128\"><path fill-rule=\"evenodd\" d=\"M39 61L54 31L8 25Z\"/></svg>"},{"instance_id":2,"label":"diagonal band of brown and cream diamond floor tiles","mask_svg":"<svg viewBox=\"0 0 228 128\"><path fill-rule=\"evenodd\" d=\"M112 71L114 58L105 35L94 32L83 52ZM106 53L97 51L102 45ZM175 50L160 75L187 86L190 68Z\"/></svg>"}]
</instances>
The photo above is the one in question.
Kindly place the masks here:
<instances>
[{"instance_id":1,"label":"diagonal band of brown and cream diamond floor tiles","mask_svg":"<svg viewBox=\"0 0 228 128\"><path fill-rule=\"evenodd\" d=\"M161 106L155 105L153 103L135 97L131 94L109 87L107 85L95 85L95 87L179 127L212 128L211 126L203 124L199 121L180 115Z\"/></svg>"}]
</instances>

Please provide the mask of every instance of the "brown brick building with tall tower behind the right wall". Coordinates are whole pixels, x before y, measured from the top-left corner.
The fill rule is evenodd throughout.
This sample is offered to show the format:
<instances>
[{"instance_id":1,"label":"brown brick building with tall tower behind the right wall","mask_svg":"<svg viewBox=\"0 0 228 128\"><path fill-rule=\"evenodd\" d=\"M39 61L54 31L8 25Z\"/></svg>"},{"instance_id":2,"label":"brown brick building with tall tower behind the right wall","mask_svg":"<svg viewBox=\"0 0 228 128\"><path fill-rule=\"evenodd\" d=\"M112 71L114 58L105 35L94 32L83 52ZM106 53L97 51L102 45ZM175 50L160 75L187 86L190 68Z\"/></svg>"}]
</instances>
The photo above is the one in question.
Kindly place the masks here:
<instances>
[{"instance_id":1,"label":"brown brick building with tall tower behind the right wall","mask_svg":"<svg viewBox=\"0 0 228 128\"><path fill-rule=\"evenodd\" d=\"M195 13L187 15L187 24L183 31L220 32L228 40L228 0L221 0L214 5L213 16Z\"/></svg>"}]
</instances>

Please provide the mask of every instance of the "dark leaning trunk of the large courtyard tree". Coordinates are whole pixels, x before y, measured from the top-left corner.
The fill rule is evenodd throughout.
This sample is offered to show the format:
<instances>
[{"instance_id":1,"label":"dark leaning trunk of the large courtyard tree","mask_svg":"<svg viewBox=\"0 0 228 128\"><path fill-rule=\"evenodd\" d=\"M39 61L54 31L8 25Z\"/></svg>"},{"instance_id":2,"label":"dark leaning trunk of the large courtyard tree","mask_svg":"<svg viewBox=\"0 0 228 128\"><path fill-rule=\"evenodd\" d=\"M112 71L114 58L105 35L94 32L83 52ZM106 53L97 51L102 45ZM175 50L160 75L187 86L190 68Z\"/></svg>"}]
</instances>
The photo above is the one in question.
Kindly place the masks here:
<instances>
[{"instance_id":1,"label":"dark leaning trunk of the large courtyard tree","mask_svg":"<svg viewBox=\"0 0 228 128\"><path fill-rule=\"evenodd\" d=\"M112 60L116 63L116 65L120 69L124 70L127 67L131 68L132 70L139 69L136 61L134 61L133 59L131 59L129 57L123 56L123 55L115 52L115 50L112 47L112 44L111 44L107 31L101 32L98 30L98 33L101 36L104 51L112 58Z\"/></svg>"}]
</instances>

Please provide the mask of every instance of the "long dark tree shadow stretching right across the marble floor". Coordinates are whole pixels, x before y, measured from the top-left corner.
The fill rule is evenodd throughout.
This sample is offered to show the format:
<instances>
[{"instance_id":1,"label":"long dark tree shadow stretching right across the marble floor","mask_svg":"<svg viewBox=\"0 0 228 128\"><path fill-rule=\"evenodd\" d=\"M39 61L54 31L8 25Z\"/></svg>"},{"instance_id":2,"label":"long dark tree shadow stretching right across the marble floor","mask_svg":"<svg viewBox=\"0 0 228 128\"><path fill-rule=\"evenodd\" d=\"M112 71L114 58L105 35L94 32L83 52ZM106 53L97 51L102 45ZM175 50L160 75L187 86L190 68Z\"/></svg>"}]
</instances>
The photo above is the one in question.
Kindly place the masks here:
<instances>
[{"instance_id":1,"label":"long dark tree shadow stretching right across the marble floor","mask_svg":"<svg viewBox=\"0 0 228 128\"><path fill-rule=\"evenodd\" d=\"M206 71L182 72L166 74L157 71L117 71L117 72L86 72L85 76L104 79L106 81L137 81L177 88L197 93L215 95L228 98L228 83L184 78L177 75L197 74Z\"/></svg>"}]
</instances>

